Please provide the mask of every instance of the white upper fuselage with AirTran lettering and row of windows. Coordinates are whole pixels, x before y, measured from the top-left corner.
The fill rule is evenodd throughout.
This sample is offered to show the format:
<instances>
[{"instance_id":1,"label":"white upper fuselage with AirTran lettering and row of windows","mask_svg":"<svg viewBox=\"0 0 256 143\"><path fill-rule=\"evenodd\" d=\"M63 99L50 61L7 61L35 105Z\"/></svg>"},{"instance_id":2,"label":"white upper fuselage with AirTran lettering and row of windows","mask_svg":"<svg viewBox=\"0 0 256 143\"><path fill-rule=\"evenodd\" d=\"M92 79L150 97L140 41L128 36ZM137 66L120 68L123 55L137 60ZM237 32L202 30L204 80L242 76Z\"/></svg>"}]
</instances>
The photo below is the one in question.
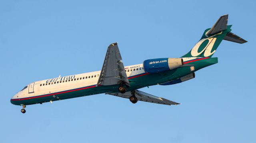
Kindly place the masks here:
<instances>
[{"instance_id":1,"label":"white upper fuselage with AirTran lettering and row of windows","mask_svg":"<svg viewBox=\"0 0 256 143\"><path fill-rule=\"evenodd\" d=\"M125 69L128 78L144 73L145 71L142 66L143 64L126 66ZM98 82L99 74L100 71L94 71L32 82L27 85L27 88L15 94L12 99L29 98L81 87L94 86Z\"/></svg>"}]
</instances>

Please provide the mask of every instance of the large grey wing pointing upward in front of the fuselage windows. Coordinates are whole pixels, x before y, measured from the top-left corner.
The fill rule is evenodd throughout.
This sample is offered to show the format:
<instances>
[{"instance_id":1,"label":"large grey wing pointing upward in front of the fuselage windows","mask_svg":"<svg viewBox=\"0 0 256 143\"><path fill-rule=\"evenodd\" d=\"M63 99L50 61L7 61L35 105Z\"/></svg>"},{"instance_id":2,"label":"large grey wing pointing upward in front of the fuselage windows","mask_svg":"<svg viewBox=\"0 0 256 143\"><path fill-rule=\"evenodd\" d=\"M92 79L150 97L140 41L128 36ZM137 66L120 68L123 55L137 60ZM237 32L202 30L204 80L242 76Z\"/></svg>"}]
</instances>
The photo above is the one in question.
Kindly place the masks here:
<instances>
[{"instance_id":1,"label":"large grey wing pointing upward in front of the fuselage windows","mask_svg":"<svg viewBox=\"0 0 256 143\"><path fill-rule=\"evenodd\" d=\"M115 85L124 82L130 86L117 43L108 46L97 85Z\"/></svg>"}]
</instances>

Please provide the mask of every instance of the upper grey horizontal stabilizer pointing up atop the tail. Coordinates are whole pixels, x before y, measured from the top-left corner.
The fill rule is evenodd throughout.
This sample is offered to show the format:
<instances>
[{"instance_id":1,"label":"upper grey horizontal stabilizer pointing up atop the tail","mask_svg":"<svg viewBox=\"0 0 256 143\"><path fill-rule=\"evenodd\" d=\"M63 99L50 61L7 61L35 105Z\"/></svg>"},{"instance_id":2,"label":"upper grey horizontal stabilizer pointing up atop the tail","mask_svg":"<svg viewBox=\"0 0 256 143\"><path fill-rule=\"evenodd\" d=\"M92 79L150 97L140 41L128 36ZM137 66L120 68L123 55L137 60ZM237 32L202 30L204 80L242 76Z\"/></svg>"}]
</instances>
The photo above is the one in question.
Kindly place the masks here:
<instances>
[{"instance_id":1,"label":"upper grey horizontal stabilizer pointing up atop the tail","mask_svg":"<svg viewBox=\"0 0 256 143\"><path fill-rule=\"evenodd\" d=\"M228 25L228 14L221 16L212 28L206 32L206 35L212 35L220 31L226 30Z\"/></svg>"}]
</instances>

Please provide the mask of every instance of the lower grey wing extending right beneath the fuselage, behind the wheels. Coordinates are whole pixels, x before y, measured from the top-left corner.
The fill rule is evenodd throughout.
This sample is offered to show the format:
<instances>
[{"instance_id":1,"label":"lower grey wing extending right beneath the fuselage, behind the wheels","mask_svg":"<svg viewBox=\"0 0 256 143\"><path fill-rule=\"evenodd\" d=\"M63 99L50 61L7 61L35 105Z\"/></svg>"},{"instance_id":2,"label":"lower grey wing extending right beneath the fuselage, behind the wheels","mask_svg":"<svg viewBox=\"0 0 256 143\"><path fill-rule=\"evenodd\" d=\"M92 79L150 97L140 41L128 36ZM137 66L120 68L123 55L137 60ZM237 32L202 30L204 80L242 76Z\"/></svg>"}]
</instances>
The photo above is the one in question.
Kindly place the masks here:
<instances>
[{"instance_id":1,"label":"lower grey wing extending right beneath the fuselage, behind the wheels","mask_svg":"<svg viewBox=\"0 0 256 143\"><path fill-rule=\"evenodd\" d=\"M157 97L157 96L154 96L154 95L151 95L151 94L147 94L147 93L142 92L140 90L129 91L129 92L126 92L124 94L122 94L122 93L106 93L106 94L110 94L110 95L114 95L114 96L129 99L132 96L132 92L134 92L136 98L138 98L139 101L151 102L151 103L157 103L157 104L165 104L165 105L178 105L178 104L180 104L180 103L173 102L173 101L161 98L161 97Z\"/></svg>"}]
</instances>

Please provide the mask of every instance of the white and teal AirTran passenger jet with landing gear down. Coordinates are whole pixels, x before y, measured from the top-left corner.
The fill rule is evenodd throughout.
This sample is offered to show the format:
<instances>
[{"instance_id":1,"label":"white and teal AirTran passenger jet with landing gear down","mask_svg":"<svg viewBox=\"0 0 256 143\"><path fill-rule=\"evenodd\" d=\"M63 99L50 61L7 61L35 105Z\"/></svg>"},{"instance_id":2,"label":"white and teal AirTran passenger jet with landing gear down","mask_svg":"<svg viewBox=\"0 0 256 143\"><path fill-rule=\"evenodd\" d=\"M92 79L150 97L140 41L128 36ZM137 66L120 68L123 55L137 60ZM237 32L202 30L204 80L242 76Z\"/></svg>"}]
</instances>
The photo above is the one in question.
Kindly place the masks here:
<instances>
[{"instance_id":1,"label":"white and teal AirTran passenger jet with landing gear down","mask_svg":"<svg viewBox=\"0 0 256 143\"><path fill-rule=\"evenodd\" d=\"M231 32L228 15L204 31L196 45L180 58L147 59L142 64L124 67L118 43L108 46L101 71L59 76L32 82L15 94L10 102L22 106L43 104L94 94L110 94L130 99L130 102L151 102L165 105L180 103L153 96L138 89L153 85L178 84L195 78L195 72L218 63L212 57L222 40L236 43L247 41Z\"/></svg>"}]
</instances>

